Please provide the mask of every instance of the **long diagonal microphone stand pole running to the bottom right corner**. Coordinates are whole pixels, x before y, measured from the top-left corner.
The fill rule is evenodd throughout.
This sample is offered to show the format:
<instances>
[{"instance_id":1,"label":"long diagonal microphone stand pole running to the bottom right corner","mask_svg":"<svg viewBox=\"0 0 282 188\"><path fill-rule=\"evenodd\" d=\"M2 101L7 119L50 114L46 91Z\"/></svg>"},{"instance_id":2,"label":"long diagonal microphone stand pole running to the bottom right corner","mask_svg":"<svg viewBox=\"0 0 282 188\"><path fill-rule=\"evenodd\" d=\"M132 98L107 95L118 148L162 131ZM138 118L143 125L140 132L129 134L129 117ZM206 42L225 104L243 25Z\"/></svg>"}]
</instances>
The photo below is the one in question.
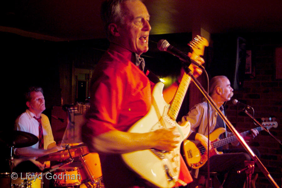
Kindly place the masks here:
<instances>
[{"instance_id":1,"label":"long diagonal microphone stand pole running to the bottom right corner","mask_svg":"<svg viewBox=\"0 0 282 188\"><path fill-rule=\"evenodd\" d=\"M188 65L189 66L189 65ZM236 129L232 126L232 124L229 122L229 120L223 115L222 111L219 110L215 102L212 100L212 98L208 95L208 93L205 91L205 89L201 86L201 84L198 82L196 77L192 74L191 70L188 68L187 65L183 66L186 74L188 74L191 79L194 81L195 85L198 87L198 89L201 91L201 93L206 97L207 101L214 107L214 109L217 111L217 114L222 118L223 121L225 121L226 125L229 127L229 129L232 131L232 133L237 137L238 141L243 145L243 147L246 149L246 151L249 153L249 155L252 157L253 161L258 165L259 169L264 173L264 176L266 176L270 183L276 187L279 188L279 186L276 184L274 179L270 176L267 169L264 167L264 165L261 163L259 158L253 153L251 148L247 145L247 143L244 141L243 137L240 136L240 134L236 131Z\"/></svg>"}]
</instances>

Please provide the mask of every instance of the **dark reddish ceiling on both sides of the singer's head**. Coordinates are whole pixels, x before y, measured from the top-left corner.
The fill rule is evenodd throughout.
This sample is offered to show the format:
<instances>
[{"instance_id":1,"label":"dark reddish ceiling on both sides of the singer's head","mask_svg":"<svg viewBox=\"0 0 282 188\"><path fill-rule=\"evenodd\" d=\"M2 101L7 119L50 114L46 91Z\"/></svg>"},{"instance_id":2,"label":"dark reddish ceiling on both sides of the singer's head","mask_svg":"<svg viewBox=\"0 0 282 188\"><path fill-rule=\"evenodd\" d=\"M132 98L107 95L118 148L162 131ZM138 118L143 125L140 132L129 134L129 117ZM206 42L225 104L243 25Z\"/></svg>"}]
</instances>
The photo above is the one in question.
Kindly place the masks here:
<instances>
[{"instance_id":1,"label":"dark reddish ceiling on both sides of the singer's head","mask_svg":"<svg viewBox=\"0 0 282 188\"><path fill-rule=\"evenodd\" d=\"M104 38L102 0L6 0L0 31L50 41ZM282 0L144 0L151 34L281 32Z\"/></svg>"}]
</instances>

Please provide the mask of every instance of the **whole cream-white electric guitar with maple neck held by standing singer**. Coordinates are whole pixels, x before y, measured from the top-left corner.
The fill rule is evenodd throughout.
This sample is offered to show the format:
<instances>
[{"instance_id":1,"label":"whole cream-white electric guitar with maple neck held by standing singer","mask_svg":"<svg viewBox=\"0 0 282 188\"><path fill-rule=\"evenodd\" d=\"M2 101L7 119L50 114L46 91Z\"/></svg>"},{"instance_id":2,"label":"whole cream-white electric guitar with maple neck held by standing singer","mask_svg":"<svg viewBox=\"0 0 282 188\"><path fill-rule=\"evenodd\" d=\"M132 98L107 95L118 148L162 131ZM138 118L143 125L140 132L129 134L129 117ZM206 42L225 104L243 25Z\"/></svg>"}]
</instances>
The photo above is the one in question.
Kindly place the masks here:
<instances>
[{"instance_id":1,"label":"whole cream-white electric guitar with maple neck held by standing singer","mask_svg":"<svg viewBox=\"0 0 282 188\"><path fill-rule=\"evenodd\" d=\"M190 42L193 49L191 59L204 54L208 42L205 38L197 36ZM190 123L184 122L180 126L175 121L186 91L191 82L191 77L184 73L171 106L162 96L164 84L158 82L152 93L151 108L146 116L136 122L128 132L146 133L162 128L177 127L180 133L180 143L172 152L148 149L122 154L123 161L128 167L143 179L161 188L175 186L180 172L180 145L188 136Z\"/></svg>"}]
</instances>

